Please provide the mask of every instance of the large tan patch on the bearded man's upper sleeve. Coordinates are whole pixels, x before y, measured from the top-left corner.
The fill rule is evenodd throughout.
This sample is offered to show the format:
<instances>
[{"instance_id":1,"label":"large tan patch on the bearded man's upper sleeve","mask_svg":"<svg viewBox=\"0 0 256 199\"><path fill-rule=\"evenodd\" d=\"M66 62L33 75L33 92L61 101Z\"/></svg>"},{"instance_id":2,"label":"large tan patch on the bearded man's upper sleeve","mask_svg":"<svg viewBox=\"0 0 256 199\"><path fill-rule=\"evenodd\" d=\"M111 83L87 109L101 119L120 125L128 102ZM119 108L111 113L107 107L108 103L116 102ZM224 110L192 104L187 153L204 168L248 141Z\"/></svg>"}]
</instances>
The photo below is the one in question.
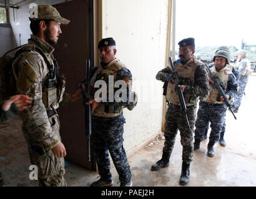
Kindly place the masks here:
<instances>
[{"instance_id":1,"label":"large tan patch on the bearded man's upper sleeve","mask_svg":"<svg viewBox=\"0 0 256 199\"><path fill-rule=\"evenodd\" d=\"M29 86L34 83L37 78L37 73L34 68L26 61L24 65L22 65L19 75L17 77L17 87L21 91L27 91Z\"/></svg>"}]
</instances>

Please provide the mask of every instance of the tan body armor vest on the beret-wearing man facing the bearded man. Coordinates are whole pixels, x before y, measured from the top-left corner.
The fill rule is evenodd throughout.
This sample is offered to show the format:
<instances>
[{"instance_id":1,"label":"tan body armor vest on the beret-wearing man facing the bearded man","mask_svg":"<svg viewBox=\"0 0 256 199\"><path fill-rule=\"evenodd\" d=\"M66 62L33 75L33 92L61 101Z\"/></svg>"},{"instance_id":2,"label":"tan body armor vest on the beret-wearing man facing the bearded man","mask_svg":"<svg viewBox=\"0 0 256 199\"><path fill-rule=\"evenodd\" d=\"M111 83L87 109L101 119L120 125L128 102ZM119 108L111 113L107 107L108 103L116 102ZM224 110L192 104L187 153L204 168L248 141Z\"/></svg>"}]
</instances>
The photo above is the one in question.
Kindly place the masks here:
<instances>
[{"instance_id":1,"label":"tan body armor vest on the beret-wearing man facing the bearded man","mask_svg":"<svg viewBox=\"0 0 256 199\"><path fill-rule=\"evenodd\" d=\"M106 69L102 68L101 66L98 67L97 71L92 76L90 85L94 88L94 84L97 80L103 80L107 83L107 95L109 93L109 75L114 76L114 83L116 82L116 75L117 72L122 68L126 67L123 63L121 63L117 58L112 60L109 65L107 65ZM114 89L115 92L115 89ZM95 92L93 92L94 94ZM94 98L94 96L93 96ZM93 116L103 117L103 118L113 118L119 116L122 113L124 106L113 106L113 105L104 105L99 103L94 112L92 113Z\"/></svg>"}]
</instances>

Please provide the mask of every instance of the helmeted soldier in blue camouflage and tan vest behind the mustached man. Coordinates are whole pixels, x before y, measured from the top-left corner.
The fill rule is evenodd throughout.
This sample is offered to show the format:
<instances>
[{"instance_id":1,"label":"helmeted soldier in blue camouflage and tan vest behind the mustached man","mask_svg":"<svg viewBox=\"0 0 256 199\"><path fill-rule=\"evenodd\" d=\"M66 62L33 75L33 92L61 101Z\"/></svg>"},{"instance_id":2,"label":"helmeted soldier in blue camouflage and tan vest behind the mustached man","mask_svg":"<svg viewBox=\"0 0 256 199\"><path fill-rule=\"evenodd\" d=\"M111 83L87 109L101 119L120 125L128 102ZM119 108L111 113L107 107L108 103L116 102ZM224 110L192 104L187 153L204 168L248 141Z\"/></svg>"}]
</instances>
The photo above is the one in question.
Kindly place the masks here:
<instances>
[{"instance_id":1,"label":"helmeted soldier in blue camouflage and tan vest behind the mustached man","mask_svg":"<svg viewBox=\"0 0 256 199\"><path fill-rule=\"evenodd\" d=\"M229 62L230 53L226 50L219 50L214 56L214 66L210 68L214 75L219 76L221 86L228 99L237 93L237 81L232 73L232 68L229 67ZM211 85L210 88L211 91L207 99L202 99L199 103L199 111L197 112L197 121L195 123L194 150L200 148L200 141L204 137L205 127L210 121L212 131L210 132L207 155L214 157L214 144L220 139L220 131L224 127L227 106L223 97L219 95L219 91Z\"/></svg>"}]
</instances>

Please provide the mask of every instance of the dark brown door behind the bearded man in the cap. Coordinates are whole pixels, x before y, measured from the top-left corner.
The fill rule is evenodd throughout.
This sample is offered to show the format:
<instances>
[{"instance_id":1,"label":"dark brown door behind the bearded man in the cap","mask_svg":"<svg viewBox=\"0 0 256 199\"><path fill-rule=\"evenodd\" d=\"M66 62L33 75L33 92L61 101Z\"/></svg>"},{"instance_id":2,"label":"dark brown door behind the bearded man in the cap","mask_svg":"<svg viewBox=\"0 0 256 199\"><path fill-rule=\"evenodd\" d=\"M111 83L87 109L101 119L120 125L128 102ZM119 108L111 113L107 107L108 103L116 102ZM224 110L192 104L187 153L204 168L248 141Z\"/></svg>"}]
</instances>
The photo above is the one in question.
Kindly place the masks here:
<instances>
[{"instance_id":1,"label":"dark brown door behind the bearded man in the cap","mask_svg":"<svg viewBox=\"0 0 256 199\"><path fill-rule=\"evenodd\" d=\"M62 17L69 19L68 25L62 26L62 34L55 46L54 57L57 57L60 74L66 77L66 92L72 95L77 84L86 78L86 60L94 65L94 22L93 0L73 0L53 5ZM91 150L91 162L87 160L87 136L82 99L59 109L61 137L66 147L66 160L96 170L96 162Z\"/></svg>"}]
</instances>

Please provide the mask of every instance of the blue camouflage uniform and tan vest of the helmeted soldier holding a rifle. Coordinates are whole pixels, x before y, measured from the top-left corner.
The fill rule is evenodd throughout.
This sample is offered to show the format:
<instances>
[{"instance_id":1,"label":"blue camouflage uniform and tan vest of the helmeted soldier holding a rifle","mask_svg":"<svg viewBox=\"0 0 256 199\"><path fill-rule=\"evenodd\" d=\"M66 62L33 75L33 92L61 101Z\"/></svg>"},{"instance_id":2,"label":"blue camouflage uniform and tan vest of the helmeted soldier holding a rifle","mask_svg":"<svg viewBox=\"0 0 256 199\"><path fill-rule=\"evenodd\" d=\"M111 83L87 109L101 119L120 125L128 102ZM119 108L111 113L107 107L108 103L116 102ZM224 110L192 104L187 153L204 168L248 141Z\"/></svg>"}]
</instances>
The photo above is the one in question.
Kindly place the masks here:
<instances>
[{"instance_id":1,"label":"blue camouflage uniform and tan vest of the helmeted soldier holding a rifle","mask_svg":"<svg viewBox=\"0 0 256 199\"><path fill-rule=\"evenodd\" d=\"M210 68L214 75L220 77L222 81L222 87L227 96L232 98L237 92L237 81L232 73L232 69L228 66L222 68L220 72L217 72L214 67ZM197 121L195 123L195 139L202 141L204 136L205 127L210 122L212 131L210 132L210 142L213 144L219 141L220 131L225 131L225 115L227 106L220 100L220 95L217 89L212 88L206 100L200 100L199 111L197 112Z\"/></svg>"}]
</instances>

